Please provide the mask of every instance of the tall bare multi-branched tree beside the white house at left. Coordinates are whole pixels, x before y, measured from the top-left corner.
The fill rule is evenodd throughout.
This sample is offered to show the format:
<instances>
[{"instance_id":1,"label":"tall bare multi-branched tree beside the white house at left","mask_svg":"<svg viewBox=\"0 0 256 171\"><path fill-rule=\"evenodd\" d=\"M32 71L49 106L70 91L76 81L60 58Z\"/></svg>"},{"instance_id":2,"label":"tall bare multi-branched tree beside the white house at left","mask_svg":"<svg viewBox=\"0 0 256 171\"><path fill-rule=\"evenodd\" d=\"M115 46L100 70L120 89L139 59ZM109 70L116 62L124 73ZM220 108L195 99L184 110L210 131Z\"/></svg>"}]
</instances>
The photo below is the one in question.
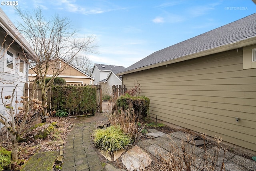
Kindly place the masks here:
<instances>
[{"instance_id":1,"label":"tall bare multi-branched tree beside the white house at left","mask_svg":"<svg viewBox=\"0 0 256 171\"><path fill-rule=\"evenodd\" d=\"M95 47L93 44L95 37L78 38L68 18L60 18L56 15L46 19L41 8L36 8L32 14L23 12L18 7L16 11L22 18L18 29L35 52L35 63L30 65L42 88L43 115L46 115L47 90L52 86L54 78L65 69L59 67L60 60L69 59L67 62L70 63L79 52L92 52ZM46 84L47 75L51 75L51 80Z\"/></svg>"}]
</instances>

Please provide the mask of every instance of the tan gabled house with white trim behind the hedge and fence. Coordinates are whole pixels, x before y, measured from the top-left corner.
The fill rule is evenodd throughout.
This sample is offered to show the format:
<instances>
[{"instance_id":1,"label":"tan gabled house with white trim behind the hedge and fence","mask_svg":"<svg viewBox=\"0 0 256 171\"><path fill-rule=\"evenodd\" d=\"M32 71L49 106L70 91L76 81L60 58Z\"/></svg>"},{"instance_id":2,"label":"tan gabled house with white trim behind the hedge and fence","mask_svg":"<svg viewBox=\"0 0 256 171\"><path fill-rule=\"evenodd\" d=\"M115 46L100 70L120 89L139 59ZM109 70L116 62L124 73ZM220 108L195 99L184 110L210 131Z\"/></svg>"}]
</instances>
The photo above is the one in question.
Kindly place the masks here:
<instances>
[{"instance_id":1,"label":"tan gabled house with white trim behind the hedge and fence","mask_svg":"<svg viewBox=\"0 0 256 171\"><path fill-rule=\"evenodd\" d=\"M58 77L63 78L66 80L67 85L81 85L81 84L92 84L93 78L88 76L88 74L82 72L78 68L72 66L71 64L68 64L68 62L64 60L60 60L60 65L58 66L60 68L65 67L65 69L59 73ZM51 77L53 68L49 70L47 77ZM34 77L36 74L34 74L33 70L28 70L29 75L28 78L30 80L34 80Z\"/></svg>"}]
</instances>

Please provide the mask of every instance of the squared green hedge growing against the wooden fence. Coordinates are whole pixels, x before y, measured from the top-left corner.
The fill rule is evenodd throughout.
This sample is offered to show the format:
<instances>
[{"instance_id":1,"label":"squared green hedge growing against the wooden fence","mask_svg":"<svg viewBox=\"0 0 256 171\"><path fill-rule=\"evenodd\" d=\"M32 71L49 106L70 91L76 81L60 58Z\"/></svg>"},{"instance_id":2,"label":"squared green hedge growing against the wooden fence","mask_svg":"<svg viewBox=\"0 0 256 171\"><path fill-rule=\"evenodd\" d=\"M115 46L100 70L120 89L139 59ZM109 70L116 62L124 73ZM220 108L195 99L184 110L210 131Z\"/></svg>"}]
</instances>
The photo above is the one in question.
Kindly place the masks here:
<instances>
[{"instance_id":1,"label":"squared green hedge growing against the wooden fence","mask_svg":"<svg viewBox=\"0 0 256 171\"><path fill-rule=\"evenodd\" d=\"M52 109L66 110L70 115L82 115L96 111L96 87L52 87Z\"/></svg>"}]
</instances>

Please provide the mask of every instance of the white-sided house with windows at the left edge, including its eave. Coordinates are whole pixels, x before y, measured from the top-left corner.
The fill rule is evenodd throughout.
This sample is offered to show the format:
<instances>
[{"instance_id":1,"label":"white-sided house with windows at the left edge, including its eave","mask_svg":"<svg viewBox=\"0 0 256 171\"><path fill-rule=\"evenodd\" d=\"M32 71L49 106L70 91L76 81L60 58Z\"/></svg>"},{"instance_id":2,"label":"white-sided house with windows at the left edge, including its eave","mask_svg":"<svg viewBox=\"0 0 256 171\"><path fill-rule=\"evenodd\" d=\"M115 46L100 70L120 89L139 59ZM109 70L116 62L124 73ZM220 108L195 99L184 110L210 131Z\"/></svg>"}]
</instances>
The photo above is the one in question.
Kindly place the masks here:
<instances>
[{"instance_id":1,"label":"white-sided house with windows at the left edge, including its eave","mask_svg":"<svg viewBox=\"0 0 256 171\"><path fill-rule=\"evenodd\" d=\"M24 84L28 81L28 64L25 54L32 56L33 51L28 42L15 28L8 16L0 8L0 91L3 97L12 95L14 87L15 100L23 95ZM28 55L26 55L28 57ZM6 115L2 99L0 112ZM2 125L0 124L0 127Z\"/></svg>"}]
</instances>

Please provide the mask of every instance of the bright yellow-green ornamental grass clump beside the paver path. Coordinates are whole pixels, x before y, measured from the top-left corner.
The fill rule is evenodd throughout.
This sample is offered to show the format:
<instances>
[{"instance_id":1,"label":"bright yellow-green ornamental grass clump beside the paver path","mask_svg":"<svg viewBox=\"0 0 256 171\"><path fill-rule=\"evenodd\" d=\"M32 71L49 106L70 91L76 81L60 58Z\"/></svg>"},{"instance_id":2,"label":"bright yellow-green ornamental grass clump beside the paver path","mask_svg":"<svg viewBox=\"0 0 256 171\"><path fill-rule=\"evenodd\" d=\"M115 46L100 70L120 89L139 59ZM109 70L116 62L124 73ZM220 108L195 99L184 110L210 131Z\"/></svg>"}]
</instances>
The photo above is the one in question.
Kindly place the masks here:
<instances>
[{"instance_id":1,"label":"bright yellow-green ornamental grass clump beside the paver path","mask_svg":"<svg viewBox=\"0 0 256 171\"><path fill-rule=\"evenodd\" d=\"M94 133L94 144L106 152L126 149L132 144L132 139L124 134L120 127L110 126L106 129L97 129Z\"/></svg>"}]
</instances>

